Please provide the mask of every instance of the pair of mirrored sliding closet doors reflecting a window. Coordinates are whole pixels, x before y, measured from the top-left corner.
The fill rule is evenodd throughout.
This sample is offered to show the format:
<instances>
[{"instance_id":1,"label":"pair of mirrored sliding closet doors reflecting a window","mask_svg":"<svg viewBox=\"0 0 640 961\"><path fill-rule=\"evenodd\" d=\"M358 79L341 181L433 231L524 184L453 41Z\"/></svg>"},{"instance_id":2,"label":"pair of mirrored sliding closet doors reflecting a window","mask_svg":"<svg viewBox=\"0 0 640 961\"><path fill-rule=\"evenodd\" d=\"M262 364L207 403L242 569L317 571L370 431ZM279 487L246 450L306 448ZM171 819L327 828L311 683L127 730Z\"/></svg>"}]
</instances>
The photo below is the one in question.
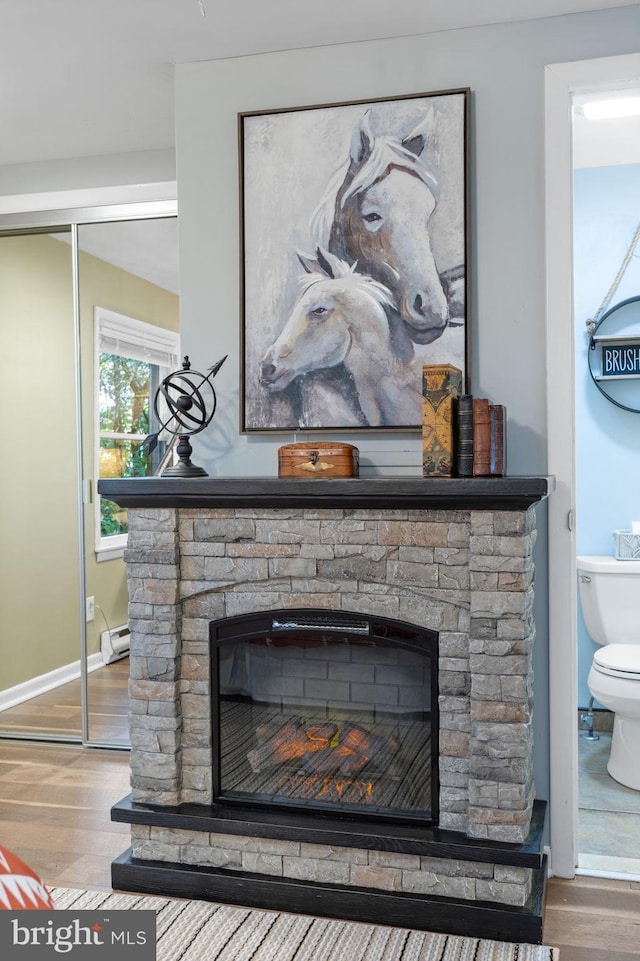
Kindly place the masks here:
<instances>
[{"instance_id":1,"label":"pair of mirrored sliding closet doors reflecting a window","mask_svg":"<svg viewBox=\"0 0 640 961\"><path fill-rule=\"evenodd\" d=\"M0 218L0 289L12 323L2 389L5 409L21 414L2 480L3 502L12 505L3 542L15 560L2 585L0 737L126 748L126 518L119 543L101 542L95 489L101 449L122 455L125 475L140 472L127 398L132 406L135 393L139 433L153 399L145 369L159 352L167 372L177 365L175 202L51 211L26 228L7 220ZM133 359L130 338L101 346L99 305L103 315L126 313L138 334L152 333L138 336ZM158 346L163 331L173 345L168 356ZM105 440L109 399L99 371L109 349L121 358L111 397L121 416L119 436Z\"/></svg>"}]
</instances>

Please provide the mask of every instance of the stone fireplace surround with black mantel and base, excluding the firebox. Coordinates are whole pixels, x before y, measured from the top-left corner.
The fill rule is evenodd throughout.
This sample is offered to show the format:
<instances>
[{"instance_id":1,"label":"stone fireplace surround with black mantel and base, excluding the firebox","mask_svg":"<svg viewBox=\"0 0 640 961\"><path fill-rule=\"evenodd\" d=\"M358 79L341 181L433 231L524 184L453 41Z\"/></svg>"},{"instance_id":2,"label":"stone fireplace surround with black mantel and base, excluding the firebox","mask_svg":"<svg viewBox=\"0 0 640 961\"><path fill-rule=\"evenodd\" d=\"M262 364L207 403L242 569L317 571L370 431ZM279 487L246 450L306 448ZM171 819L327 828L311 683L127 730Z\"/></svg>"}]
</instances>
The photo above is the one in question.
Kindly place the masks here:
<instances>
[{"instance_id":1,"label":"stone fireplace surround with black mantel and base, excluding the firebox","mask_svg":"<svg viewBox=\"0 0 640 961\"><path fill-rule=\"evenodd\" d=\"M449 930L451 915L457 931L462 917L478 933L540 940L532 550L546 479L143 479L100 491L130 518L132 794L114 817L131 823L132 846L114 884L197 884L201 897L290 909L297 898L363 920L384 904L390 922ZM283 608L437 632L437 828L214 798L210 622Z\"/></svg>"}]
</instances>

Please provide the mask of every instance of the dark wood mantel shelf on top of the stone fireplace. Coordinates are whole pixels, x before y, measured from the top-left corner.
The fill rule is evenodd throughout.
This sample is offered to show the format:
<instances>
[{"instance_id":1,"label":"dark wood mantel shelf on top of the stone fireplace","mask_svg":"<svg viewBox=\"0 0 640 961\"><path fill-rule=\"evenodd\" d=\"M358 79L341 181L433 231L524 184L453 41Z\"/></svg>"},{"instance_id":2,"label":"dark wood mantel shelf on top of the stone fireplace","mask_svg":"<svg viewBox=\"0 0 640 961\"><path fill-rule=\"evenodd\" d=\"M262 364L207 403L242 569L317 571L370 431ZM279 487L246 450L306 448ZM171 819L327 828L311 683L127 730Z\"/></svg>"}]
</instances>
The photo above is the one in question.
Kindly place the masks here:
<instances>
[{"instance_id":1,"label":"dark wood mantel shelf on top of the stone fireplace","mask_svg":"<svg viewBox=\"0 0 640 961\"><path fill-rule=\"evenodd\" d=\"M120 507L526 510L544 500L552 477L135 477L98 481Z\"/></svg>"}]
</instances>

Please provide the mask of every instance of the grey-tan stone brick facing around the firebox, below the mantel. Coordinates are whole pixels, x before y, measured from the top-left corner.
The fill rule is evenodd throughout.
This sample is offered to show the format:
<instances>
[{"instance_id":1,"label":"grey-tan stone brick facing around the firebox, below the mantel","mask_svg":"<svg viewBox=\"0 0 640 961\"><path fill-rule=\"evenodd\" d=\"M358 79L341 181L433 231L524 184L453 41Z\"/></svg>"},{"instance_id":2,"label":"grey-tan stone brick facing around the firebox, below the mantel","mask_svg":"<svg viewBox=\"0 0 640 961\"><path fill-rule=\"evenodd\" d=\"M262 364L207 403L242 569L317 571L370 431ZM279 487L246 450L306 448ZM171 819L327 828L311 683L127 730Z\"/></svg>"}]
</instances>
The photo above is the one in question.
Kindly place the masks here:
<instances>
[{"instance_id":1,"label":"grey-tan stone brick facing around the firebox, below the mantel","mask_svg":"<svg viewBox=\"0 0 640 961\"><path fill-rule=\"evenodd\" d=\"M132 509L129 524L135 801L212 801L210 621L318 607L438 632L440 826L525 840L534 796L534 507ZM251 870L291 857L252 853ZM390 890L418 889L403 887L419 886L409 869L357 867L354 877L383 878ZM460 887L477 892L477 880ZM482 880L491 898L513 883ZM444 882L433 883L444 893Z\"/></svg>"}]
</instances>

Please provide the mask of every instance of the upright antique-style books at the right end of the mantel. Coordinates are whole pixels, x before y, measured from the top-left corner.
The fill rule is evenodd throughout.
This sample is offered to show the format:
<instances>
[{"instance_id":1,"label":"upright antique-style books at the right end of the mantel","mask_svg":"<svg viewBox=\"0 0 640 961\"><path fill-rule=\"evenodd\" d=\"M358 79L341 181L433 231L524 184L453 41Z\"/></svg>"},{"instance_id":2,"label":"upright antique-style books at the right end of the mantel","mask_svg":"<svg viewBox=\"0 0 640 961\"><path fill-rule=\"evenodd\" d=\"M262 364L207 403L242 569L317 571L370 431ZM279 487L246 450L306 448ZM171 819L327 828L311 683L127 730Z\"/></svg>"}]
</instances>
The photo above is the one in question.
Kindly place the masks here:
<instances>
[{"instance_id":1,"label":"upright antique-style books at the right end of the mantel","mask_svg":"<svg viewBox=\"0 0 640 961\"><path fill-rule=\"evenodd\" d=\"M501 477L506 411L486 397L462 393L450 364L422 371L422 473L425 477Z\"/></svg>"}]
</instances>

